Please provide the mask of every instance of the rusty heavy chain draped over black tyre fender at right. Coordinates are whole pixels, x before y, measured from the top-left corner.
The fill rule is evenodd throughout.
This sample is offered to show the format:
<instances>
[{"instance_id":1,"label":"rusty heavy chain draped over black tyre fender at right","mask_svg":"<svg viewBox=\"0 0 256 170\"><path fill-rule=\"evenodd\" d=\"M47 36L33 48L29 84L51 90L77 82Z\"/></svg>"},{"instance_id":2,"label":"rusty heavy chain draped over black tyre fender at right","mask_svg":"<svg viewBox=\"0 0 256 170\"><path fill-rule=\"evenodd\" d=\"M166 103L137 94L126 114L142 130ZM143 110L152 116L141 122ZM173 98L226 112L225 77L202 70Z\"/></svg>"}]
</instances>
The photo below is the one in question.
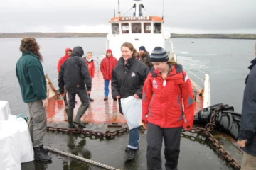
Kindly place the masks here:
<instances>
[{"instance_id":1,"label":"rusty heavy chain draped over black tyre fender at right","mask_svg":"<svg viewBox=\"0 0 256 170\"><path fill-rule=\"evenodd\" d=\"M220 105L218 108L216 108L211 117L210 122L205 126L205 128L197 127L193 128L190 132L191 133L201 133L205 135L210 142L213 143L213 147L217 150L218 154L220 154L223 159L225 159L230 166L233 166L234 169L240 169L240 165L238 164L238 161L233 158L228 151L225 151L222 145L216 140L213 135L210 134L211 131L215 128L215 118L218 115L218 113L221 111L221 109L225 108L227 105Z\"/></svg>"}]
</instances>

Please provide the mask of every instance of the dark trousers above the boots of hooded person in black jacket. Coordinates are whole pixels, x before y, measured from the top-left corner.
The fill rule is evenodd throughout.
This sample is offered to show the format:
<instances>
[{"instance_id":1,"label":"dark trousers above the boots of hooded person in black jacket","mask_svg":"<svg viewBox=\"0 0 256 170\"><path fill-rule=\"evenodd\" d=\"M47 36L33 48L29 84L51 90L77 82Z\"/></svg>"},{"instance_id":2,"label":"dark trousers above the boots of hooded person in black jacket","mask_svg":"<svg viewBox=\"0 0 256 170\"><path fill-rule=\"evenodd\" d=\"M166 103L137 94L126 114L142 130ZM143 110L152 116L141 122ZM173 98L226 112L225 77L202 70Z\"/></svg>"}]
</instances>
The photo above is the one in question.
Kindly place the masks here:
<instances>
[{"instance_id":1,"label":"dark trousers above the boots of hooded person in black jacket","mask_svg":"<svg viewBox=\"0 0 256 170\"><path fill-rule=\"evenodd\" d=\"M83 106L89 106L89 96L87 95L86 89L80 89L76 91L76 93L69 93L68 92L68 109L75 108L75 94L78 94L78 97L80 98L81 105Z\"/></svg>"}]
</instances>

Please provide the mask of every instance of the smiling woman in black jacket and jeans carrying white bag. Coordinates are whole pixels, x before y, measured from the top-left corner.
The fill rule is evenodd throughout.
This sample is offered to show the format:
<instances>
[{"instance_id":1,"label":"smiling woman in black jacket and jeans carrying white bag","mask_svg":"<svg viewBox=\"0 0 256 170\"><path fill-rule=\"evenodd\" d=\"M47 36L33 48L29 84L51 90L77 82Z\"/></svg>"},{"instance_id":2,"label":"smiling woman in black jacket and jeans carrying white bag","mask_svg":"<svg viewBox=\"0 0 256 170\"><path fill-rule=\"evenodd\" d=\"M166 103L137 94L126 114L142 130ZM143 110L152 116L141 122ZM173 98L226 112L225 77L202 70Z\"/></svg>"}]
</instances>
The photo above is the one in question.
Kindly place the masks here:
<instances>
[{"instance_id":1,"label":"smiling woman in black jacket and jeans carrying white bag","mask_svg":"<svg viewBox=\"0 0 256 170\"><path fill-rule=\"evenodd\" d=\"M111 79L112 97L118 99L119 111L129 126L129 143L125 149L125 161L134 159L138 149L139 122L142 115L142 88L149 68L136 60L136 49L129 42L121 46L122 57L114 67ZM139 116L138 116L139 115Z\"/></svg>"}]
</instances>

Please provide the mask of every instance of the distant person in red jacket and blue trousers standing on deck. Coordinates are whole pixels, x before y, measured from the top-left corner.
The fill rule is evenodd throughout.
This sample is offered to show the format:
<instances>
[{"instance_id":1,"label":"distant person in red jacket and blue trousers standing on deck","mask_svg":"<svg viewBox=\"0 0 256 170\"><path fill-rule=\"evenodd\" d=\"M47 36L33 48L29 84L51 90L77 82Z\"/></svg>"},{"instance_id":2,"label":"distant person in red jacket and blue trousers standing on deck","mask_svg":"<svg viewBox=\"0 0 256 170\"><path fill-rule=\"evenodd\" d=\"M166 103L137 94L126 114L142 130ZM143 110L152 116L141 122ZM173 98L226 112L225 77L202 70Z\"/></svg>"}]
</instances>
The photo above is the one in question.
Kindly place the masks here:
<instances>
[{"instance_id":1,"label":"distant person in red jacket and blue trousers standing on deck","mask_svg":"<svg viewBox=\"0 0 256 170\"><path fill-rule=\"evenodd\" d=\"M117 65L117 59L113 57L112 51L107 49L106 57L100 62L100 72L102 72L104 79L104 101L107 101L109 94L109 84L112 77L112 71Z\"/></svg>"}]
</instances>

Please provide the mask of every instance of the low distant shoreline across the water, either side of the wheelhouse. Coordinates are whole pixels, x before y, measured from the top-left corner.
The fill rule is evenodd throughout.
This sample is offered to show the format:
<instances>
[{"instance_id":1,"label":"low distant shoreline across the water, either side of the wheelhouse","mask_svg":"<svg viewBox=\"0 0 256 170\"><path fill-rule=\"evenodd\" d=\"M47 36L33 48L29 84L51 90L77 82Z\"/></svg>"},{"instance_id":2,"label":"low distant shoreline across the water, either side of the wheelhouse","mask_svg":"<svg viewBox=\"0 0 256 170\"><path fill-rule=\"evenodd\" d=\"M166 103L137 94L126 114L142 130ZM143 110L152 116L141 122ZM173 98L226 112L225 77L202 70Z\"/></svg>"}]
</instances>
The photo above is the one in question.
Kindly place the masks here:
<instances>
[{"instance_id":1,"label":"low distant shoreline across the water, either side of the wheelhouse","mask_svg":"<svg viewBox=\"0 0 256 170\"><path fill-rule=\"evenodd\" d=\"M0 33L0 38L82 38L106 37L107 33ZM245 39L256 40L256 34L176 34L171 38L215 38L215 39Z\"/></svg>"}]
</instances>

